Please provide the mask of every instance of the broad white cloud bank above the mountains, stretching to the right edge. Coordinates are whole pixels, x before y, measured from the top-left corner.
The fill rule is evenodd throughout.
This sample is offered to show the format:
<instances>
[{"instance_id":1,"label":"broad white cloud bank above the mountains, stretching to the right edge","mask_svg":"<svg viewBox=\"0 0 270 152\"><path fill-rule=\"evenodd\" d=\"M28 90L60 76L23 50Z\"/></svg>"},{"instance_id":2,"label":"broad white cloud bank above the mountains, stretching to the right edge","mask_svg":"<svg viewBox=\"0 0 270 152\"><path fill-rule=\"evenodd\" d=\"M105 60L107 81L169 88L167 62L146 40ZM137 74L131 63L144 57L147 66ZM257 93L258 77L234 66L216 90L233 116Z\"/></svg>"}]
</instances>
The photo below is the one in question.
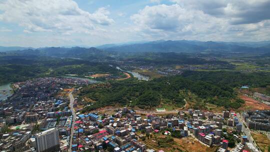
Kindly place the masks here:
<instances>
[{"instance_id":1,"label":"broad white cloud bank above the mountains, stretching to the right edge","mask_svg":"<svg viewBox=\"0 0 270 152\"><path fill-rule=\"evenodd\" d=\"M221 10L226 4L212 3L208 12L197 6L187 4L158 4L145 6L130 18L134 23L134 31L142 37L154 39L198 39L198 40L239 40L267 39L270 34L269 20L261 20L248 24L233 24L231 17ZM207 4L205 4L205 7ZM226 6L227 7L227 6ZM220 9L220 10L217 10ZM211 11L211 12L210 12ZM214 11L219 12L214 13ZM234 11L233 13L237 13ZM231 12L232 14L232 12ZM236 18L236 17L235 17ZM259 37L260 35L261 37Z\"/></svg>"}]
</instances>

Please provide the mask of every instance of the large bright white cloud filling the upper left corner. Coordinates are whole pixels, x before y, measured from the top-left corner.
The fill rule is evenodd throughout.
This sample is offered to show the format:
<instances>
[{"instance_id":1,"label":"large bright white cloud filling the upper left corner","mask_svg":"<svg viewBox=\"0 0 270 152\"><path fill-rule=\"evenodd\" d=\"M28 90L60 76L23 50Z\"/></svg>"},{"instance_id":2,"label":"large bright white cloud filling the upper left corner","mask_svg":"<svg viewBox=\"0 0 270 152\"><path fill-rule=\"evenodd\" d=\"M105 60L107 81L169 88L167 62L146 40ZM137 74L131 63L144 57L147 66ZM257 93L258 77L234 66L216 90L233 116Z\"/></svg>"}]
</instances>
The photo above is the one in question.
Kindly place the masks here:
<instances>
[{"instance_id":1,"label":"large bright white cloud filling the upper left corner","mask_svg":"<svg viewBox=\"0 0 270 152\"><path fill-rule=\"evenodd\" d=\"M24 32L89 33L114 22L106 8L89 13L72 0L6 0L0 10L0 21L17 23Z\"/></svg>"}]
</instances>

